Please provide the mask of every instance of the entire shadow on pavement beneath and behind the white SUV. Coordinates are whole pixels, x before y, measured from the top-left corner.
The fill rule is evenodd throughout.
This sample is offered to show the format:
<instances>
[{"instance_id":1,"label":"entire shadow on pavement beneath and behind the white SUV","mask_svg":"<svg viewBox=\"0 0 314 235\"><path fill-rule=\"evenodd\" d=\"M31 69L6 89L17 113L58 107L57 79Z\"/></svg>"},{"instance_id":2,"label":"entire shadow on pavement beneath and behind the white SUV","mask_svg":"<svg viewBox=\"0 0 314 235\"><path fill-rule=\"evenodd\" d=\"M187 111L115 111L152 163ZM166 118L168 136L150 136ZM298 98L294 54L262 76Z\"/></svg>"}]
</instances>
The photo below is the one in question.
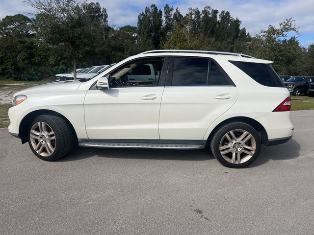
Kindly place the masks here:
<instances>
[{"instance_id":1,"label":"entire shadow on pavement beneath and behind the white SUV","mask_svg":"<svg viewBox=\"0 0 314 235\"><path fill-rule=\"evenodd\" d=\"M291 139L287 143L268 146L262 145L258 159L248 167L256 167L269 160L289 160L300 154L300 144ZM119 148L89 148L78 147L60 162L78 161L90 157L120 158L120 159L152 159L175 161L208 161L215 159L209 149L199 150L166 150L166 149L119 149Z\"/></svg>"}]
</instances>

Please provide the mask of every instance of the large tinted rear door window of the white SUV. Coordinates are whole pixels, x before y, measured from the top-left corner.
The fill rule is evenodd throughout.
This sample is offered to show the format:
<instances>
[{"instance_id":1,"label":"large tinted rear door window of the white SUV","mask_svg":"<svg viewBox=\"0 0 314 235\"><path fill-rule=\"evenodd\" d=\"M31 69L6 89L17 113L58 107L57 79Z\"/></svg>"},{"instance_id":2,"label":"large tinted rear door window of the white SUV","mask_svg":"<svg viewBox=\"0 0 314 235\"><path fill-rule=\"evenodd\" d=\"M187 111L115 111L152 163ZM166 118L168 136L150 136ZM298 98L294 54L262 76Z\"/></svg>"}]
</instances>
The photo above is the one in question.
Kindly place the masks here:
<instances>
[{"instance_id":1,"label":"large tinted rear door window of the white SUV","mask_svg":"<svg viewBox=\"0 0 314 235\"><path fill-rule=\"evenodd\" d=\"M175 57L172 86L205 86L209 59Z\"/></svg>"}]
</instances>

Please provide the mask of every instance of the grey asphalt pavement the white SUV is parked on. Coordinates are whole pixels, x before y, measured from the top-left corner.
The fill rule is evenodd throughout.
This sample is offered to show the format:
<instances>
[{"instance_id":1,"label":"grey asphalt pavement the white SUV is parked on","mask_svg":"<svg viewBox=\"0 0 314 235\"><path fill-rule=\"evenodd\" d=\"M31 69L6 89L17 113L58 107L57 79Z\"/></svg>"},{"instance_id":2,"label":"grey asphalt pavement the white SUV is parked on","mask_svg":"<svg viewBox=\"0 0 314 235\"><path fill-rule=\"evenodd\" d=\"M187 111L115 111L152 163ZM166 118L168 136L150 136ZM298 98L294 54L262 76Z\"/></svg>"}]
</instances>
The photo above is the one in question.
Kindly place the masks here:
<instances>
[{"instance_id":1,"label":"grey asphalt pavement the white SUV is parked on","mask_svg":"<svg viewBox=\"0 0 314 235\"><path fill-rule=\"evenodd\" d=\"M314 234L314 111L245 169L207 150L78 148L53 163L0 129L0 234Z\"/></svg>"}]
</instances>

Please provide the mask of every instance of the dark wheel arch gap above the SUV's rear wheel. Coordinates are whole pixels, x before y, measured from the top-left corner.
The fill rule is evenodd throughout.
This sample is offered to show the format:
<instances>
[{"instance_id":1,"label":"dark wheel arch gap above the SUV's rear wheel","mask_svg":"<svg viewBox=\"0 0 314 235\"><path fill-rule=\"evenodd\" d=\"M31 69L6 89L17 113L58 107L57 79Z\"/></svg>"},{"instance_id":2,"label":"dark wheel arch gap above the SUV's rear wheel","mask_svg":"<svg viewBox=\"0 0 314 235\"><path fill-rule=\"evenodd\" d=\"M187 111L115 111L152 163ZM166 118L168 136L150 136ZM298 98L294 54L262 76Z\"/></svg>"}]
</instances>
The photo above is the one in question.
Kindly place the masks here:
<instances>
[{"instance_id":1,"label":"dark wheel arch gap above the SUV's rear wheel","mask_svg":"<svg viewBox=\"0 0 314 235\"><path fill-rule=\"evenodd\" d=\"M209 137L207 138L206 146L208 147L210 145L211 139L212 139L213 135L217 132L217 130L219 130L222 126L224 126L226 124L229 124L232 122L237 122L237 121L241 121L241 122L247 123L250 126L252 126L259 133L259 136L262 140L262 144L267 143L268 136L267 136L267 132L266 132L265 128L263 127L263 125L253 118L240 116L240 117L228 118L226 120L221 121L218 125L216 125L215 128L210 132Z\"/></svg>"}]
</instances>

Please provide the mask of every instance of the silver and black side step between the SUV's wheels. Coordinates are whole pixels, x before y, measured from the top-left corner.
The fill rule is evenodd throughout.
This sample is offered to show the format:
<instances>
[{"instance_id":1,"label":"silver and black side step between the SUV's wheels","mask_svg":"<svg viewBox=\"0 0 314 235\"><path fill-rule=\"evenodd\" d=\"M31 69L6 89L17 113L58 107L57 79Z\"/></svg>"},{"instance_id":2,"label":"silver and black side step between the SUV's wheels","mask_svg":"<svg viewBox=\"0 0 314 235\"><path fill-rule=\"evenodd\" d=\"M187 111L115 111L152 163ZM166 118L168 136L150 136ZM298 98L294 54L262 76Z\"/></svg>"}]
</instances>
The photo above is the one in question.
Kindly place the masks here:
<instances>
[{"instance_id":1,"label":"silver and black side step between the SUV's wheels","mask_svg":"<svg viewBox=\"0 0 314 235\"><path fill-rule=\"evenodd\" d=\"M200 149L204 145L197 144L154 144L154 143L105 143L105 142L80 142L78 146L98 148L159 148L159 149Z\"/></svg>"}]
</instances>

